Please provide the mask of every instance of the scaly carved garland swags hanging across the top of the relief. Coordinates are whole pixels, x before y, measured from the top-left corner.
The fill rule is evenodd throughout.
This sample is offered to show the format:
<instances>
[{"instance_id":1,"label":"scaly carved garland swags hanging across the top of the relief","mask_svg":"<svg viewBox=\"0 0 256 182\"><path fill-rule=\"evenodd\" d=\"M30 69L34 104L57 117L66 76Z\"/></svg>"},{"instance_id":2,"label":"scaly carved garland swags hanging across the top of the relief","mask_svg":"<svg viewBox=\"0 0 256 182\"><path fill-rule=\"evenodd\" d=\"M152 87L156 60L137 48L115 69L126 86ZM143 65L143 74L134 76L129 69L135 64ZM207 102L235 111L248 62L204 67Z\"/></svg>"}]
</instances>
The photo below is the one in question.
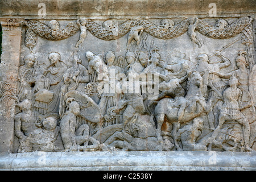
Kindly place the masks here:
<instances>
[{"instance_id":1,"label":"scaly carved garland swags hanging across the top of the relief","mask_svg":"<svg viewBox=\"0 0 256 182\"><path fill-rule=\"evenodd\" d=\"M231 24L228 24L224 28L216 28L210 25L204 20L199 20L196 26L196 30L209 38L213 39L229 39L237 34L242 33L242 43L251 44L253 40L252 34L252 19L249 17L242 17L237 19ZM127 20L118 26L118 35L114 35L113 31L108 30L105 27L93 22L92 20L87 20L86 28L87 30L96 36L98 39L102 40L115 40L119 39L127 32L131 30L131 27L142 26L144 31L151 36L154 36L158 39L173 39L180 35L183 35L188 31L189 18L182 20L181 22L175 24L172 28L161 28L158 25L151 23L145 19L133 19ZM32 30L36 35L47 39L47 40L64 40L69 38L72 35L75 35L79 31L74 23L69 23L62 30L51 30L49 26L44 23L38 22L38 20L29 20L27 22L28 30ZM31 34L30 31L27 31L28 34Z\"/></svg>"}]
</instances>

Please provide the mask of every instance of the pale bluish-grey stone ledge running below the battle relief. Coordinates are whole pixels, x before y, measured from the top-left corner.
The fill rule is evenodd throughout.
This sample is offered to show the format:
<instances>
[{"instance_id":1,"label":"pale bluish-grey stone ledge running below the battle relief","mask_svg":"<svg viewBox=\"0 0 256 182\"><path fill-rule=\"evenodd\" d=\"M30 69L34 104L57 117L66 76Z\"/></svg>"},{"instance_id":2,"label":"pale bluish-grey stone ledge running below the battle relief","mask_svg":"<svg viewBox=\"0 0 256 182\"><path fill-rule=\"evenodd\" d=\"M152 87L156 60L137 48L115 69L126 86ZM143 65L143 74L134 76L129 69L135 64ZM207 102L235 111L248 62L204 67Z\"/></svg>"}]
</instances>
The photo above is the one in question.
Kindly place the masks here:
<instances>
[{"instance_id":1,"label":"pale bluish-grey stone ledge running below the battle relief","mask_svg":"<svg viewBox=\"0 0 256 182\"><path fill-rule=\"evenodd\" d=\"M0 155L0 170L256 170L256 152L32 152Z\"/></svg>"}]
</instances>

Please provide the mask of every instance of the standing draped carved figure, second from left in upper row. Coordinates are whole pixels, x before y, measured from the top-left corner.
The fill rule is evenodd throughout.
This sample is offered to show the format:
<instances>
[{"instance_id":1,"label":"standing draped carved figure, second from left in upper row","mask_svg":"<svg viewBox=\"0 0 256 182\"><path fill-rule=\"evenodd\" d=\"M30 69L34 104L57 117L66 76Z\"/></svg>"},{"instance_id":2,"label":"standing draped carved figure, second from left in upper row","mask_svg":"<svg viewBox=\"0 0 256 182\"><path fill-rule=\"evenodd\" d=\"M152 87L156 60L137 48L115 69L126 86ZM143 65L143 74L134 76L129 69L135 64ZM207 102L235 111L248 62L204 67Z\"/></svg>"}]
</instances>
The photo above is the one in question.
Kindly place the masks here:
<instances>
[{"instance_id":1,"label":"standing draped carved figure, second from left in upper row","mask_svg":"<svg viewBox=\"0 0 256 182\"><path fill-rule=\"evenodd\" d=\"M59 113L60 105L60 88L63 85L63 75L67 71L67 65L65 65L60 58L60 54L57 52L51 52L48 55L50 65L44 72L44 75L50 81L49 91L53 92L52 101L48 104L47 113Z\"/></svg>"}]
</instances>

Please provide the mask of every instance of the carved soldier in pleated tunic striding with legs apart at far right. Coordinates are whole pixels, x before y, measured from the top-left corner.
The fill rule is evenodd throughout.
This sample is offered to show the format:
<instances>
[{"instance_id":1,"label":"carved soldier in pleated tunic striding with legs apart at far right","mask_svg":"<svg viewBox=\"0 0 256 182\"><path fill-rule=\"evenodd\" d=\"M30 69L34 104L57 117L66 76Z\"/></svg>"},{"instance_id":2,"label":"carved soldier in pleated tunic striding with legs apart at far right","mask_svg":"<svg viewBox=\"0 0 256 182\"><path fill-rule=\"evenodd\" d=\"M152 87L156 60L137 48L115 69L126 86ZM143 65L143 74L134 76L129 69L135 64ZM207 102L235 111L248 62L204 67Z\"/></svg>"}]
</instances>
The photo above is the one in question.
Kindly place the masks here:
<instances>
[{"instance_id":1,"label":"carved soldier in pleated tunic striding with legs apart at far right","mask_svg":"<svg viewBox=\"0 0 256 182\"><path fill-rule=\"evenodd\" d=\"M220 108L220 115L218 118L218 126L213 131L212 137L215 139L221 129L221 126L225 121L237 121L243 126L243 138L245 141L245 150L251 151L249 147L249 137L250 137L250 125L249 121L246 119L245 115L241 113L245 107L250 106L250 104L241 104L241 89L237 88L238 80L236 77L229 79L229 88L223 93L224 104Z\"/></svg>"}]
</instances>

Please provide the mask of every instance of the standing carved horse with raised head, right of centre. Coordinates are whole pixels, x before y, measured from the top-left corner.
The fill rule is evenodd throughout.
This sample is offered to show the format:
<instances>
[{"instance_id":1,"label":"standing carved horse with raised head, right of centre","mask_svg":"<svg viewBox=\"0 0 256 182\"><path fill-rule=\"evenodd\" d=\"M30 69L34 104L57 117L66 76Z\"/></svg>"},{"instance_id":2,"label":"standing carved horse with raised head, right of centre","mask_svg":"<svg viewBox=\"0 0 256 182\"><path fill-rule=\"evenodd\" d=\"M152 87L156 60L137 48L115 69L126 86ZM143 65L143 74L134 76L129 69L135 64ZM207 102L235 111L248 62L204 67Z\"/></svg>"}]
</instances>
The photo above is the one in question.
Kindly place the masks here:
<instances>
[{"instance_id":1,"label":"standing carved horse with raised head, right of centre","mask_svg":"<svg viewBox=\"0 0 256 182\"><path fill-rule=\"evenodd\" d=\"M180 123L191 121L193 118L199 117L205 109L206 102L203 97L203 77L200 73L193 71L188 76L187 94L185 97L175 96L174 98L163 98L155 107L155 119L157 122L156 135L159 142L163 142L161 137L161 127L164 119L172 123L172 136L176 148L179 145L176 142L176 131Z\"/></svg>"}]
</instances>

